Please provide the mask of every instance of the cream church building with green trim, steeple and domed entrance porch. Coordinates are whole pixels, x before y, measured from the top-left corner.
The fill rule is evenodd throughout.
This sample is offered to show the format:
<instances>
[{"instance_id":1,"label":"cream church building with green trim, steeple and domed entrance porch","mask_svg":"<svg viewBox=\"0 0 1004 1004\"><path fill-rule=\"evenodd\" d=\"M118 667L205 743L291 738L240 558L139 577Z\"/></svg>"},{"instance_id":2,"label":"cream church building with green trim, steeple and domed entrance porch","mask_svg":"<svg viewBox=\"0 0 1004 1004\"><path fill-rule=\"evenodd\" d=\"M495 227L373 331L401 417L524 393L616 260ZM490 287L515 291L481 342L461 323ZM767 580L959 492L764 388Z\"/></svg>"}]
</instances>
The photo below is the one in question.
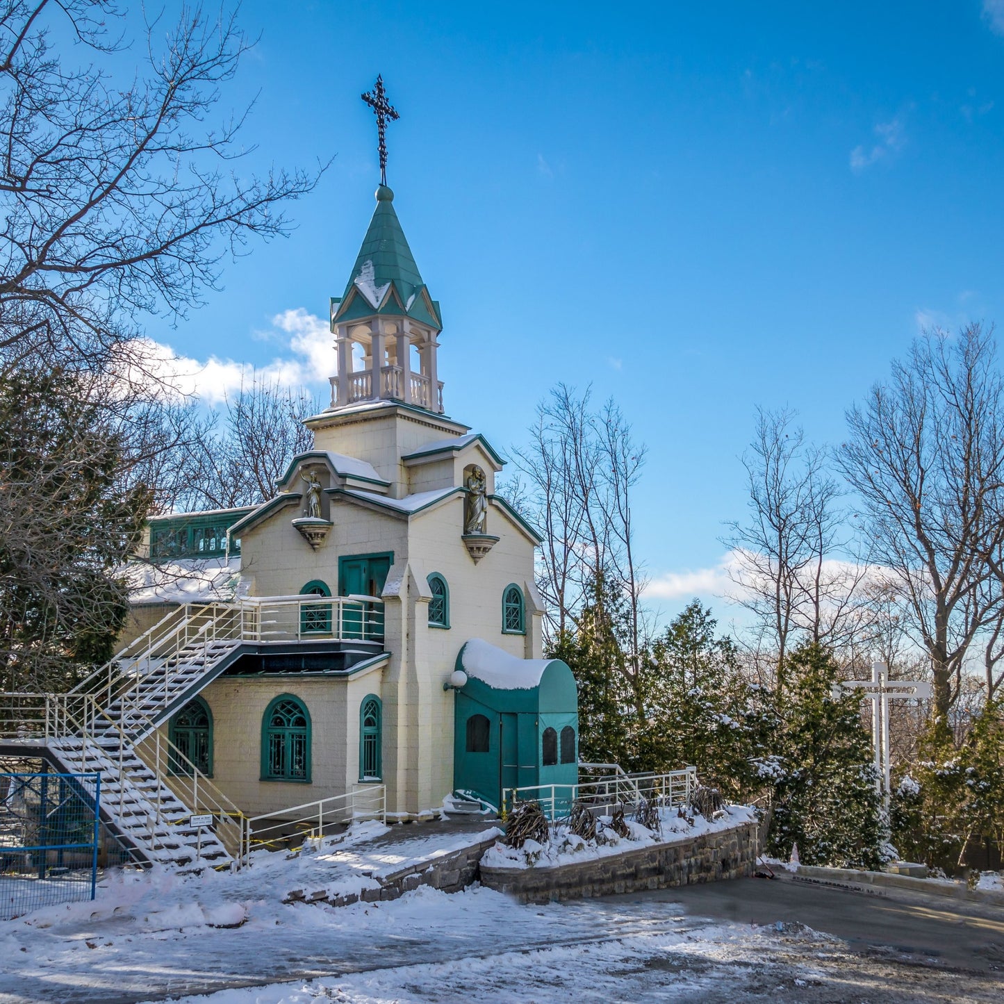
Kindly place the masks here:
<instances>
[{"instance_id":1,"label":"cream church building with green trim, steeple and domed entrance porch","mask_svg":"<svg viewBox=\"0 0 1004 1004\"><path fill-rule=\"evenodd\" d=\"M574 784L540 541L496 493L496 450L445 413L440 306L386 185L330 322L330 405L274 497L151 520L124 641L184 610L205 668L163 732L248 814L383 785L414 818L453 792L498 807Z\"/></svg>"}]
</instances>

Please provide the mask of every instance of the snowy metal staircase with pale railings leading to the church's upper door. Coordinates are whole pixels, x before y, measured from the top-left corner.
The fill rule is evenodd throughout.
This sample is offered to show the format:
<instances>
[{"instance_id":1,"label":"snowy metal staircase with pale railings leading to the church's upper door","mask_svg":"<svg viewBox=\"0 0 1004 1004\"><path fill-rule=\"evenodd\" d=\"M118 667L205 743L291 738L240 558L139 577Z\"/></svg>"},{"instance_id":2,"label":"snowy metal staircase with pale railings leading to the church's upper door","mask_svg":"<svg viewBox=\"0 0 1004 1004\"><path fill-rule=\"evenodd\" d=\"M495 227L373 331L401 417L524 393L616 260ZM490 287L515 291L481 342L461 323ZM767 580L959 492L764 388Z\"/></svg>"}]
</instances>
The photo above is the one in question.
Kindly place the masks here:
<instances>
[{"instance_id":1,"label":"snowy metal staircase with pale railings leading to the church's upper door","mask_svg":"<svg viewBox=\"0 0 1004 1004\"><path fill-rule=\"evenodd\" d=\"M379 602L273 596L180 606L66 694L0 695L0 749L31 755L44 747L67 773L98 773L101 818L139 860L240 864L249 839L244 813L161 726L246 644L307 634L380 640ZM211 815L212 826L193 827L193 815Z\"/></svg>"}]
</instances>

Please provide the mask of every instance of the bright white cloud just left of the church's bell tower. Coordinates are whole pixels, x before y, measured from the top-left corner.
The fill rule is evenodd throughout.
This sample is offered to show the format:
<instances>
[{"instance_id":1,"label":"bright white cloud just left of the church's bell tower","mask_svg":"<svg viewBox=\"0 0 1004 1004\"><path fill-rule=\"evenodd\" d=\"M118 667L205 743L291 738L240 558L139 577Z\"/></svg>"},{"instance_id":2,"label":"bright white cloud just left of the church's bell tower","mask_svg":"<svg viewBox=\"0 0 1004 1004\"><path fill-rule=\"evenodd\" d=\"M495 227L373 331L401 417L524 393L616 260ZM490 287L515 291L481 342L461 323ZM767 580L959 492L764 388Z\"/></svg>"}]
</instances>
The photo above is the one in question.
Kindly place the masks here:
<instances>
[{"instance_id":1,"label":"bright white cloud just left of the church's bell tower","mask_svg":"<svg viewBox=\"0 0 1004 1004\"><path fill-rule=\"evenodd\" d=\"M331 332L326 321L302 307L284 310L272 318L272 330L258 331L256 338L279 341L288 349L263 366L210 355L202 360L178 354L171 345L145 339L142 366L130 367L131 375L143 379L146 371L180 395L218 405L240 390L252 374L284 387L324 385L335 371Z\"/></svg>"}]
</instances>

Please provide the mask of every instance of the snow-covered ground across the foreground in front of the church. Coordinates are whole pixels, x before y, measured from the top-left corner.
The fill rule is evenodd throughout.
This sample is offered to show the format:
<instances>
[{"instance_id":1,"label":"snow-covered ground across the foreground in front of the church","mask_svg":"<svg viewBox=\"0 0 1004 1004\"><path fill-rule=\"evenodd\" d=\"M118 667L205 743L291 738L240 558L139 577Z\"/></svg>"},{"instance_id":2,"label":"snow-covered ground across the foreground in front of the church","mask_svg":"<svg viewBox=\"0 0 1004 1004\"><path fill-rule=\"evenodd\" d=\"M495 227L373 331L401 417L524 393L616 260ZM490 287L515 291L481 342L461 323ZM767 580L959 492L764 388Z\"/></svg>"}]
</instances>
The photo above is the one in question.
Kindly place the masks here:
<instances>
[{"instance_id":1,"label":"snow-covered ground across the foreground in front of the church","mask_svg":"<svg viewBox=\"0 0 1004 1004\"><path fill-rule=\"evenodd\" d=\"M263 856L236 874L109 874L93 903L0 923L0 1001L928 999L892 992L841 942L798 925L688 917L665 898L534 907L485 889L424 888L343 908L281 902L292 889L358 888L450 842L416 833L392 843L368 824L336 846Z\"/></svg>"}]
</instances>

